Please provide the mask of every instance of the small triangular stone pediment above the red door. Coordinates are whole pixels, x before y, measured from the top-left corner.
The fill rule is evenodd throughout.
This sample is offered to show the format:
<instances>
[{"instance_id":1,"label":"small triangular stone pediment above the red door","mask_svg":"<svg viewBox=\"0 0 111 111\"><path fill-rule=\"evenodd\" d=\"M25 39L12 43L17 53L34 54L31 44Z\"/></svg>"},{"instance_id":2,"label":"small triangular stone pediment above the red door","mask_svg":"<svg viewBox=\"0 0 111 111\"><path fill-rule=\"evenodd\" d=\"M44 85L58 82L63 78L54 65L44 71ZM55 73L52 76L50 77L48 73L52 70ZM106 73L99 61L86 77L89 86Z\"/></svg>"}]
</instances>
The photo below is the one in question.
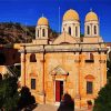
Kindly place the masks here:
<instances>
[{"instance_id":1,"label":"small triangular stone pediment above the red door","mask_svg":"<svg viewBox=\"0 0 111 111\"><path fill-rule=\"evenodd\" d=\"M62 75L67 75L68 74L68 72L65 70L63 70L61 67L54 68L50 73L52 75L53 74L62 74Z\"/></svg>"}]
</instances>

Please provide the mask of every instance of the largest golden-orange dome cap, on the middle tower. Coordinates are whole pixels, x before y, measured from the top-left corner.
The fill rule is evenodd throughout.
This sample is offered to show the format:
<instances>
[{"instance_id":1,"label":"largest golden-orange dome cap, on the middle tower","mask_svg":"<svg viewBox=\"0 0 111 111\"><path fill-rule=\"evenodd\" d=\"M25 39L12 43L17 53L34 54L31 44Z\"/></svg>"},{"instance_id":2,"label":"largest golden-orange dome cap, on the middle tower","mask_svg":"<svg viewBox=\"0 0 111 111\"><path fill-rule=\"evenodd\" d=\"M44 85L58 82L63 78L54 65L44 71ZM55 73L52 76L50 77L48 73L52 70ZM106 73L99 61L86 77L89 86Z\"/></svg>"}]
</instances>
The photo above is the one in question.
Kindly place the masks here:
<instances>
[{"instance_id":1,"label":"largest golden-orange dome cap, on the middle tower","mask_svg":"<svg viewBox=\"0 0 111 111\"><path fill-rule=\"evenodd\" d=\"M72 9L68 10L63 16L63 21L68 21L68 20L78 20L79 21L78 12Z\"/></svg>"}]
</instances>

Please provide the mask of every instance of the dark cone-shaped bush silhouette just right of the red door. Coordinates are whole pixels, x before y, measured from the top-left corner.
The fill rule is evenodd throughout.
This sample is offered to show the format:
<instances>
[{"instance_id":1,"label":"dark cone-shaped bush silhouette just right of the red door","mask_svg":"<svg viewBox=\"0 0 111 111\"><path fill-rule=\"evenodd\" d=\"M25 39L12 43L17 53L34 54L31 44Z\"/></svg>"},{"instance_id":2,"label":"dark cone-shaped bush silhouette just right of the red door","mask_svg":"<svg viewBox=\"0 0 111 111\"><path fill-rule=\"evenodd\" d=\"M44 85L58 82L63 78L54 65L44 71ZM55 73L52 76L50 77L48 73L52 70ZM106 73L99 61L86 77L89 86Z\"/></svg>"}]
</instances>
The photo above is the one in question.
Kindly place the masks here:
<instances>
[{"instance_id":1,"label":"dark cone-shaped bush silhouette just right of the red door","mask_svg":"<svg viewBox=\"0 0 111 111\"><path fill-rule=\"evenodd\" d=\"M74 101L72 100L70 94L65 93L63 95L58 111L74 111Z\"/></svg>"}]
</instances>

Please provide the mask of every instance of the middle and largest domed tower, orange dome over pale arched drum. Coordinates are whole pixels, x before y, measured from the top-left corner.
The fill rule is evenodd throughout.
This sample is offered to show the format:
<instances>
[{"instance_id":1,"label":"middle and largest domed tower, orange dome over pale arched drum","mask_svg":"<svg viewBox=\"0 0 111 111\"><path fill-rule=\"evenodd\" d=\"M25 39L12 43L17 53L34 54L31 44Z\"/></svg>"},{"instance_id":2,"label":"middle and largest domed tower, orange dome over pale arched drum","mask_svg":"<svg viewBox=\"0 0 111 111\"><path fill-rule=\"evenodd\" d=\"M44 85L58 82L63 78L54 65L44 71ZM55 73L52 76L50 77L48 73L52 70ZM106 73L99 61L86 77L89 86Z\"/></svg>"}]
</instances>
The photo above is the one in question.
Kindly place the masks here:
<instances>
[{"instance_id":1,"label":"middle and largest domed tower, orange dome over pale arched drum","mask_svg":"<svg viewBox=\"0 0 111 111\"><path fill-rule=\"evenodd\" d=\"M80 19L75 10L68 10L63 16L62 32L72 37L80 37Z\"/></svg>"}]
</instances>

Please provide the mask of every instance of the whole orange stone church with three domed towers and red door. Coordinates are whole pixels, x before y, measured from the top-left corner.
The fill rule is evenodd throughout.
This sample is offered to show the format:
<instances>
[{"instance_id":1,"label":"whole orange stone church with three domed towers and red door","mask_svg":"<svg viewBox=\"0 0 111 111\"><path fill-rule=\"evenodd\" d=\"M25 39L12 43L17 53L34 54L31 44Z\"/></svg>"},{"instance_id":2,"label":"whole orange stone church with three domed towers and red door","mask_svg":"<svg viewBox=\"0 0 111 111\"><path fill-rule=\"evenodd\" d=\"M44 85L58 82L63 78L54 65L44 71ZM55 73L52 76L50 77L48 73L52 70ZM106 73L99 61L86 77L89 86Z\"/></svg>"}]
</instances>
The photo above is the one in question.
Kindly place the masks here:
<instances>
[{"instance_id":1,"label":"whole orange stone church with three domed towers and red door","mask_svg":"<svg viewBox=\"0 0 111 111\"><path fill-rule=\"evenodd\" d=\"M21 85L30 88L38 103L56 104L69 93L75 107L84 107L107 83L107 47L92 11L85 16L84 37L80 37L79 14L68 10L54 40L49 39L48 19L41 17L36 39L23 43L20 53Z\"/></svg>"}]
</instances>

